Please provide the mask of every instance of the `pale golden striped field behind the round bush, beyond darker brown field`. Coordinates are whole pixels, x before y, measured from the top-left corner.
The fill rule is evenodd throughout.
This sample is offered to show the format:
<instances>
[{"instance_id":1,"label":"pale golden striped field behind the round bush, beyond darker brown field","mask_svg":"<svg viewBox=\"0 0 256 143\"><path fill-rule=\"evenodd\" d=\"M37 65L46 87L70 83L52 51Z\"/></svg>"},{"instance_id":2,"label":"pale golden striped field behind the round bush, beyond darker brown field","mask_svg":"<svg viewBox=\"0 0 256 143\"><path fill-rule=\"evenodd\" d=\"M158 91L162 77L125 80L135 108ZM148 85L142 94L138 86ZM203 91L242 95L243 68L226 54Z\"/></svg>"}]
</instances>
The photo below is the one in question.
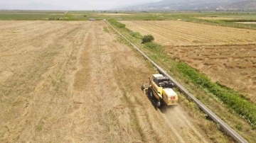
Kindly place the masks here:
<instances>
[{"instance_id":1,"label":"pale golden striped field behind the round bush, beyond darker brown field","mask_svg":"<svg viewBox=\"0 0 256 143\"><path fill-rule=\"evenodd\" d=\"M120 21L130 30L154 35L161 45L256 44L256 30L228 28L185 21Z\"/></svg>"}]
</instances>

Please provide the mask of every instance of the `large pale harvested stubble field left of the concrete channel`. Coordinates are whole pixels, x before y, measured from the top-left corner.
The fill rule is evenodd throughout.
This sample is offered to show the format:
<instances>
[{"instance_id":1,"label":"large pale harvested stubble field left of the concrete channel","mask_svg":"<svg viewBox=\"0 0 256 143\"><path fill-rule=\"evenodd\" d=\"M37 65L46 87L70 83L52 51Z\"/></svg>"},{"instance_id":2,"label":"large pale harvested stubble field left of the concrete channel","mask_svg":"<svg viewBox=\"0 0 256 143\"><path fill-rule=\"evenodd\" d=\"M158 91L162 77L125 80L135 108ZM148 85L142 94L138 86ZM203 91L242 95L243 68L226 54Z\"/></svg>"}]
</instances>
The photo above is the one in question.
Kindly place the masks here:
<instances>
[{"instance_id":1,"label":"large pale harvested stubble field left of the concrete channel","mask_svg":"<svg viewBox=\"0 0 256 143\"><path fill-rule=\"evenodd\" d=\"M227 141L181 105L154 108L140 90L154 70L105 28L0 21L0 142Z\"/></svg>"}]
</instances>

